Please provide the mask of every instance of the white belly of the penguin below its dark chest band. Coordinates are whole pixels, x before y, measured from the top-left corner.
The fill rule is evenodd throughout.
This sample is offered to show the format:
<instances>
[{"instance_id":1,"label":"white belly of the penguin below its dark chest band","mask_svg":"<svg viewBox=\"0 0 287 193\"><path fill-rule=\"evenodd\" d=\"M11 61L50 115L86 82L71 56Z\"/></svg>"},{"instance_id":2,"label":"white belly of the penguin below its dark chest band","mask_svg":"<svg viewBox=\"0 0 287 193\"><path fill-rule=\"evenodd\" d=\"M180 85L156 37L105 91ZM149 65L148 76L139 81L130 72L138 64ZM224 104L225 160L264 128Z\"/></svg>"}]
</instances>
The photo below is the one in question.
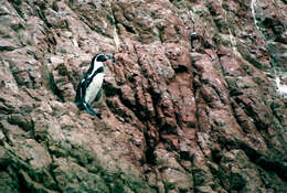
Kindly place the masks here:
<instances>
[{"instance_id":1,"label":"white belly of the penguin below its dark chest band","mask_svg":"<svg viewBox=\"0 0 287 193\"><path fill-rule=\"evenodd\" d=\"M85 101L87 104L91 104L95 100L99 89L102 88L104 76L104 73L98 73L86 88Z\"/></svg>"}]
</instances>

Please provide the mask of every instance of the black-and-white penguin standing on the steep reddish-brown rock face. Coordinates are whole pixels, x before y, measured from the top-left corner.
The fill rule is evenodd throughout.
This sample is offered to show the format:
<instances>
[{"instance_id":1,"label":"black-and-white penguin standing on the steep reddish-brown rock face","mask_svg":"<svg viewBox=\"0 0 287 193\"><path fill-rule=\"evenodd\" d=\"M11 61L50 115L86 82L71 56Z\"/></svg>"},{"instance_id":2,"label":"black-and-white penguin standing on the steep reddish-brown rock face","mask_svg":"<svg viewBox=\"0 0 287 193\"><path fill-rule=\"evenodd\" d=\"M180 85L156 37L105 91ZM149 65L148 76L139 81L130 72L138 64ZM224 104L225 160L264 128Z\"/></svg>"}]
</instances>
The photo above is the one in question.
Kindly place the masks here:
<instances>
[{"instance_id":1,"label":"black-and-white penguin standing on the steep reddish-brown rock face","mask_svg":"<svg viewBox=\"0 0 287 193\"><path fill-rule=\"evenodd\" d=\"M85 109L88 114L98 116L100 115L95 111L91 104L97 101L102 97L103 82L104 82L104 62L107 60L115 61L113 55L104 53L96 54L91 62L91 66L87 73L79 81L76 89L75 104L79 110Z\"/></svg>"}]
</instances>

